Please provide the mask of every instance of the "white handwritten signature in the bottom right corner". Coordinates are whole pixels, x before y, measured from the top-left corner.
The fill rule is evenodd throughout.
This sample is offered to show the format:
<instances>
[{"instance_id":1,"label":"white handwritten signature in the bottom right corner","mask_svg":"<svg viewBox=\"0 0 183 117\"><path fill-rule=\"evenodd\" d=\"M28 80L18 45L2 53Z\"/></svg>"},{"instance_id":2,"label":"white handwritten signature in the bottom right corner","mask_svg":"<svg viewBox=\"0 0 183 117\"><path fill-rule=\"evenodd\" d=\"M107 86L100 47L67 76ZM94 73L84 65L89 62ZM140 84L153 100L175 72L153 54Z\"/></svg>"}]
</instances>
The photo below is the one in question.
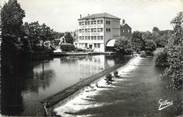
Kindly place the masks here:
<instances>
[{"instance_id":1,"label":"white handwritten signature in the bottom right corner","mask_svg":"<svg viewBox=\"0 0 183 117\"><path fill-rule=\"evenodd\" d=\"M159 105L158 110L161 111L161 110L163 110L163 109L165 109L165 108L167 108L167 107L173 105L173 101L168 101L168 100L160 99L160 100L159 100L159 104L160 104L160 105Z\"/></svg>"}]
</instances>

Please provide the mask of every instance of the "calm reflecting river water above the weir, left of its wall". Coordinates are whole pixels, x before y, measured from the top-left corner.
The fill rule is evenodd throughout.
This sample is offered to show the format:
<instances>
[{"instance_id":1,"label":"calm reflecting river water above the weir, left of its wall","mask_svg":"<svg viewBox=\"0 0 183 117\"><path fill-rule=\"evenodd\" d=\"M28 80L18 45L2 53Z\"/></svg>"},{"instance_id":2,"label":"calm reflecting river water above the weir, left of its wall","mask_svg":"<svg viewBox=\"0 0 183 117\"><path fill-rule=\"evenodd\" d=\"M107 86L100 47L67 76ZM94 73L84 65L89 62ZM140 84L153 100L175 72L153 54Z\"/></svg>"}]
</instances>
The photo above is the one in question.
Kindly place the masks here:
<instances>
[{"instance_id":1,"label":"calm reflecting river water above the weir, left of its wall","mask_svg":"<svg viewBox=\"0 0 183 117\"><path fill-rule=\"evenodd\" d=\"M106 68L124 65L129 59L105 55L68 56L25 64L19 76L3 81L2 113L43 115L41 100Z\"/></svg>"}]
</instances>

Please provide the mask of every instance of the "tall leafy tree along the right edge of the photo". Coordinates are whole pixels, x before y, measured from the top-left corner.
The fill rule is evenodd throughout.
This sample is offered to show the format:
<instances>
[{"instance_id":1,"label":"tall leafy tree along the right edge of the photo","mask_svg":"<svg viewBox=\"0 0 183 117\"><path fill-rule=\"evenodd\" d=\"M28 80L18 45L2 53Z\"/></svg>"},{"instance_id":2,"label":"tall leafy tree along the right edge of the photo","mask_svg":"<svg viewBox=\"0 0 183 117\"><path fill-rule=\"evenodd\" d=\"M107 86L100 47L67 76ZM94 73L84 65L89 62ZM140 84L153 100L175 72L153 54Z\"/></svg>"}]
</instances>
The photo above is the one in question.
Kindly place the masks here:
<instances>
[{"instance_id":1,"label":"tall leafy tree along the right edge of the photo","mask_svg":"<svg viewBox=\"0 0 183 117\"><path fill-rule=\"evenodd\" d=\"M172 40L167 46L169 68L163 78L171 81L170 85L176 89L183 87L183 12L180 12L171 22L174 25Z\"/></svg>"}]
</instances>

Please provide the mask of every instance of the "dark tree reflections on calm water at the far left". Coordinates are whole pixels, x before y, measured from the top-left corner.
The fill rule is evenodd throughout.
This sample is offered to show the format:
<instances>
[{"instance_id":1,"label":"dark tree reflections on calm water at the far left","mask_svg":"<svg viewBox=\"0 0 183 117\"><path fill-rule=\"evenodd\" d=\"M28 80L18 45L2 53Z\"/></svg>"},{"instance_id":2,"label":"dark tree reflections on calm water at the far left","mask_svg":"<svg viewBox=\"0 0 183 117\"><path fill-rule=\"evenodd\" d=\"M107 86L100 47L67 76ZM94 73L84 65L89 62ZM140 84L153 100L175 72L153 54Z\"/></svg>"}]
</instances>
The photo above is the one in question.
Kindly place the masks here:
<instances>
[{"instance_id":1,"label":"dark tree reflections on calm water at the far left","mask_svg":"<svg viewBox=\"0 0 183 117\"><path fill-rule=\"evenodd\" d=\"M25 110L25 98L23 92L39 92L39 88L45 89L51 83L54 76L52 70L45 70L44 64L41 70L34 71L30 61L19 60L11 71L8 66L1 69L1 113L3 115L22 115ZM33 102L34 104L34 102Z\"/></svg>"}]
</instances>

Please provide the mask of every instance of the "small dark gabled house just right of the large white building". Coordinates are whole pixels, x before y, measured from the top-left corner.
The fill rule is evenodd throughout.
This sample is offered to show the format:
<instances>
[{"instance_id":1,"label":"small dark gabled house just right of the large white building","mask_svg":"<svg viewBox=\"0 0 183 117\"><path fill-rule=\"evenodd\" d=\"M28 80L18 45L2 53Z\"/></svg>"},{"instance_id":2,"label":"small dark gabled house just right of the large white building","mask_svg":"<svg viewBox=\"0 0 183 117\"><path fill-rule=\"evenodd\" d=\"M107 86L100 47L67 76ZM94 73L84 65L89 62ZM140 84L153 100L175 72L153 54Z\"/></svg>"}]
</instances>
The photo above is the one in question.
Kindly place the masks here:
<instances>
[{"instance_id":1,"label":"small dark gabled house just right of the large white building","mask_svg":"<svg viewBox=\"0 0 183 117\"><path fill-rule=\"evenodd\" d=\"M120 26L120 36L123 37L129 37L132 34L132 28L125 23L125 20L123 19L122 24Z\"/></svg>"}]
</instances>

